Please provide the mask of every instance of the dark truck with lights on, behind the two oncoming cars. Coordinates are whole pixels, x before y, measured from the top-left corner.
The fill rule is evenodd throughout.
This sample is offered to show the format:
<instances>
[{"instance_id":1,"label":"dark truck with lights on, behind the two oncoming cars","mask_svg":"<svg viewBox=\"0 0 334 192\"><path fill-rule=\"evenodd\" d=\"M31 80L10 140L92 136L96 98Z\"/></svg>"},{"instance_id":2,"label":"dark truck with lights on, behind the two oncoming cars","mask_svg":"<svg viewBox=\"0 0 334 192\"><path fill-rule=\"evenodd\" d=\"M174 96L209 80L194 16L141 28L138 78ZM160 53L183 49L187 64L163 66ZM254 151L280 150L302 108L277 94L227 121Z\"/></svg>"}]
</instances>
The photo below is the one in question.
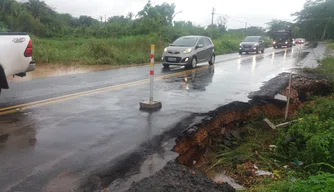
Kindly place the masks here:
<instances>
[{"instance_id":1,"label":"dark truck with lights on, behind the two oncoming cars","mask_svg":"<svg viewBox=\"0 0 334 192\"><path fill-rule=\"evenodd\" d=\"M272 37L274 49L293 46L291 30L278 30L272 34Z\"/></svg>"}]
</instances>

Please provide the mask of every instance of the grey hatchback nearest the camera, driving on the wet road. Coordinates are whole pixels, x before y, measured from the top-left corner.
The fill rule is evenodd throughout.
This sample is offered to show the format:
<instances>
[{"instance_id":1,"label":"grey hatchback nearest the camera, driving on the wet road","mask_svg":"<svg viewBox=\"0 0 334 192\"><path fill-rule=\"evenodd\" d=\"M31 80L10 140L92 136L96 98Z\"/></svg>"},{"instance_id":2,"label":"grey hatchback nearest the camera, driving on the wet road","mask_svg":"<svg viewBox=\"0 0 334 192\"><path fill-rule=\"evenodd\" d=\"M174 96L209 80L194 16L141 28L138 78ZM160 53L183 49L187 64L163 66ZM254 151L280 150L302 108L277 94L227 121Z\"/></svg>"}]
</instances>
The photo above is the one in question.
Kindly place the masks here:
<instances>
[{"instance_id":1,"label":"grey hatchback nearest the camera, driving on the wet road","mask_svg":"<svg viewBox=\"0 0 334 192\"><path fill-rule=\"evenodd\" d=\"M170 65L195 68L198 63L215 63L215 46L212 40L206 36L183 36L176 39L164 49L162 65L168 68Z\"/></svg>"}]
</instances>

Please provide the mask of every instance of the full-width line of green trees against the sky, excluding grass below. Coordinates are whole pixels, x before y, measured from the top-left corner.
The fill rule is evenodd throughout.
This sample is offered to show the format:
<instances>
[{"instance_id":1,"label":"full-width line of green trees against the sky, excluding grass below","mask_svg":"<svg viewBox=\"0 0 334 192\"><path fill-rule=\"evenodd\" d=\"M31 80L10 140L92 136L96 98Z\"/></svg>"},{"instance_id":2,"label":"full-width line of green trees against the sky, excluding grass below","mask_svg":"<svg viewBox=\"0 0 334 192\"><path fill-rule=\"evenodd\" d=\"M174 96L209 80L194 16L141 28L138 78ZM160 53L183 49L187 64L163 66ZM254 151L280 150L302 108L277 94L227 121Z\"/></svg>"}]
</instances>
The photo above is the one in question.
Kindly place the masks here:
<instances>
[{"instance_id":1,"label":"full-width line of green trees against the sky, excluding grass below","mask_svg":"<svg viewBox=\"0 0 334 192\"><path fill-rule=\"evenodd\" d=\"M272 20L268 28L248 27L227 30L226 18L219 17L214 25L199 26L191 21L174 21L175 4L153 6L150 1L138 13L112 16L106 21L82 15L56 12L44 1L0 0L0 31L24 31L39 37L97 37L119 38L134 35L158 35L173 40L182 35L206 35L219 38L225 33L268 35L273 31L291 29L295 36L307 39L333 39L334 0L307 0L304 8L292 15L295 22Z\"/></svg>"}]
</instances>

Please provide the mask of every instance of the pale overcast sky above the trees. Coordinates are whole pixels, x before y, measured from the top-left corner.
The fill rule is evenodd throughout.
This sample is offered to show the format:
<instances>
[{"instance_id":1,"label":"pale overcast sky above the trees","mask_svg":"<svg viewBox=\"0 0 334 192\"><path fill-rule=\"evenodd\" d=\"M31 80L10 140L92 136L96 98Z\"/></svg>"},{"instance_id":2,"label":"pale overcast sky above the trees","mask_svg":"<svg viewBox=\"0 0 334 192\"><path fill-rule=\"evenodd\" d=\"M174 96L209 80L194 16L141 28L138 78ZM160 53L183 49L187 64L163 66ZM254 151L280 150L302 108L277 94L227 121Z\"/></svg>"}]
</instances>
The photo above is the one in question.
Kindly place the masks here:
<instances>
[{"instance_id":1,"label":"pale overcast sky above the trees","mask_svg":"<svg viewBox=\"0 0 334 192\"><path fill-rule=\"evenodd\" d=\"M126 15L138 13L147 0L44 0L60 13L70 13L75 17ZM211 23L212 8L217 17L228 15L228 28L262 26L271 19L292 21L291 13L300 11L306 0L151 0L152 4L175 3L176 12L182 11L175 20L190 20L199 25Z\"/></svg>"}]
</instances>

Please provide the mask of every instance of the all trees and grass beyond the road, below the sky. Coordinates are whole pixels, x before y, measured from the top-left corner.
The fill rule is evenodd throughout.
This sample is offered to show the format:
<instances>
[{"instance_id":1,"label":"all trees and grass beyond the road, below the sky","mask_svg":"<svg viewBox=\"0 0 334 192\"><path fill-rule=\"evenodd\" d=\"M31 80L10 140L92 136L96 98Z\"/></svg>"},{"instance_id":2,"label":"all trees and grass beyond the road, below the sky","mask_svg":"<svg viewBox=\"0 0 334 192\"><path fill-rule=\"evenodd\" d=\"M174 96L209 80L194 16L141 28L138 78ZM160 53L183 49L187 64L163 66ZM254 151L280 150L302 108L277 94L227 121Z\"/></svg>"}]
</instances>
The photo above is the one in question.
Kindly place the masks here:
<instances>
[{"instance_id":1,"label":"all trees and grass beyond the road, below the sky","mask_svg":"<svg viewBox=\"0 0 334 192\"><path fill-rule=\"evenodd\" d=\"M218 54L238 50L245 35L263 35L291 28L297 36L330 39L334 36L334 0L307 1L295 13L296 23L273 20L268 30L251 26L227 29L227 19L214 25L198 26L191 21L174 21L174 4L153 6L150 1L138 13L95 19L60 14L41 0L0 0L0 31L25 31L33 36L35 59L43 63L129 64L147 62L150 44L157 55L182 35L213 36ZM157 56L157 60L160 57Z\"/></svg>"}]
</instances>

